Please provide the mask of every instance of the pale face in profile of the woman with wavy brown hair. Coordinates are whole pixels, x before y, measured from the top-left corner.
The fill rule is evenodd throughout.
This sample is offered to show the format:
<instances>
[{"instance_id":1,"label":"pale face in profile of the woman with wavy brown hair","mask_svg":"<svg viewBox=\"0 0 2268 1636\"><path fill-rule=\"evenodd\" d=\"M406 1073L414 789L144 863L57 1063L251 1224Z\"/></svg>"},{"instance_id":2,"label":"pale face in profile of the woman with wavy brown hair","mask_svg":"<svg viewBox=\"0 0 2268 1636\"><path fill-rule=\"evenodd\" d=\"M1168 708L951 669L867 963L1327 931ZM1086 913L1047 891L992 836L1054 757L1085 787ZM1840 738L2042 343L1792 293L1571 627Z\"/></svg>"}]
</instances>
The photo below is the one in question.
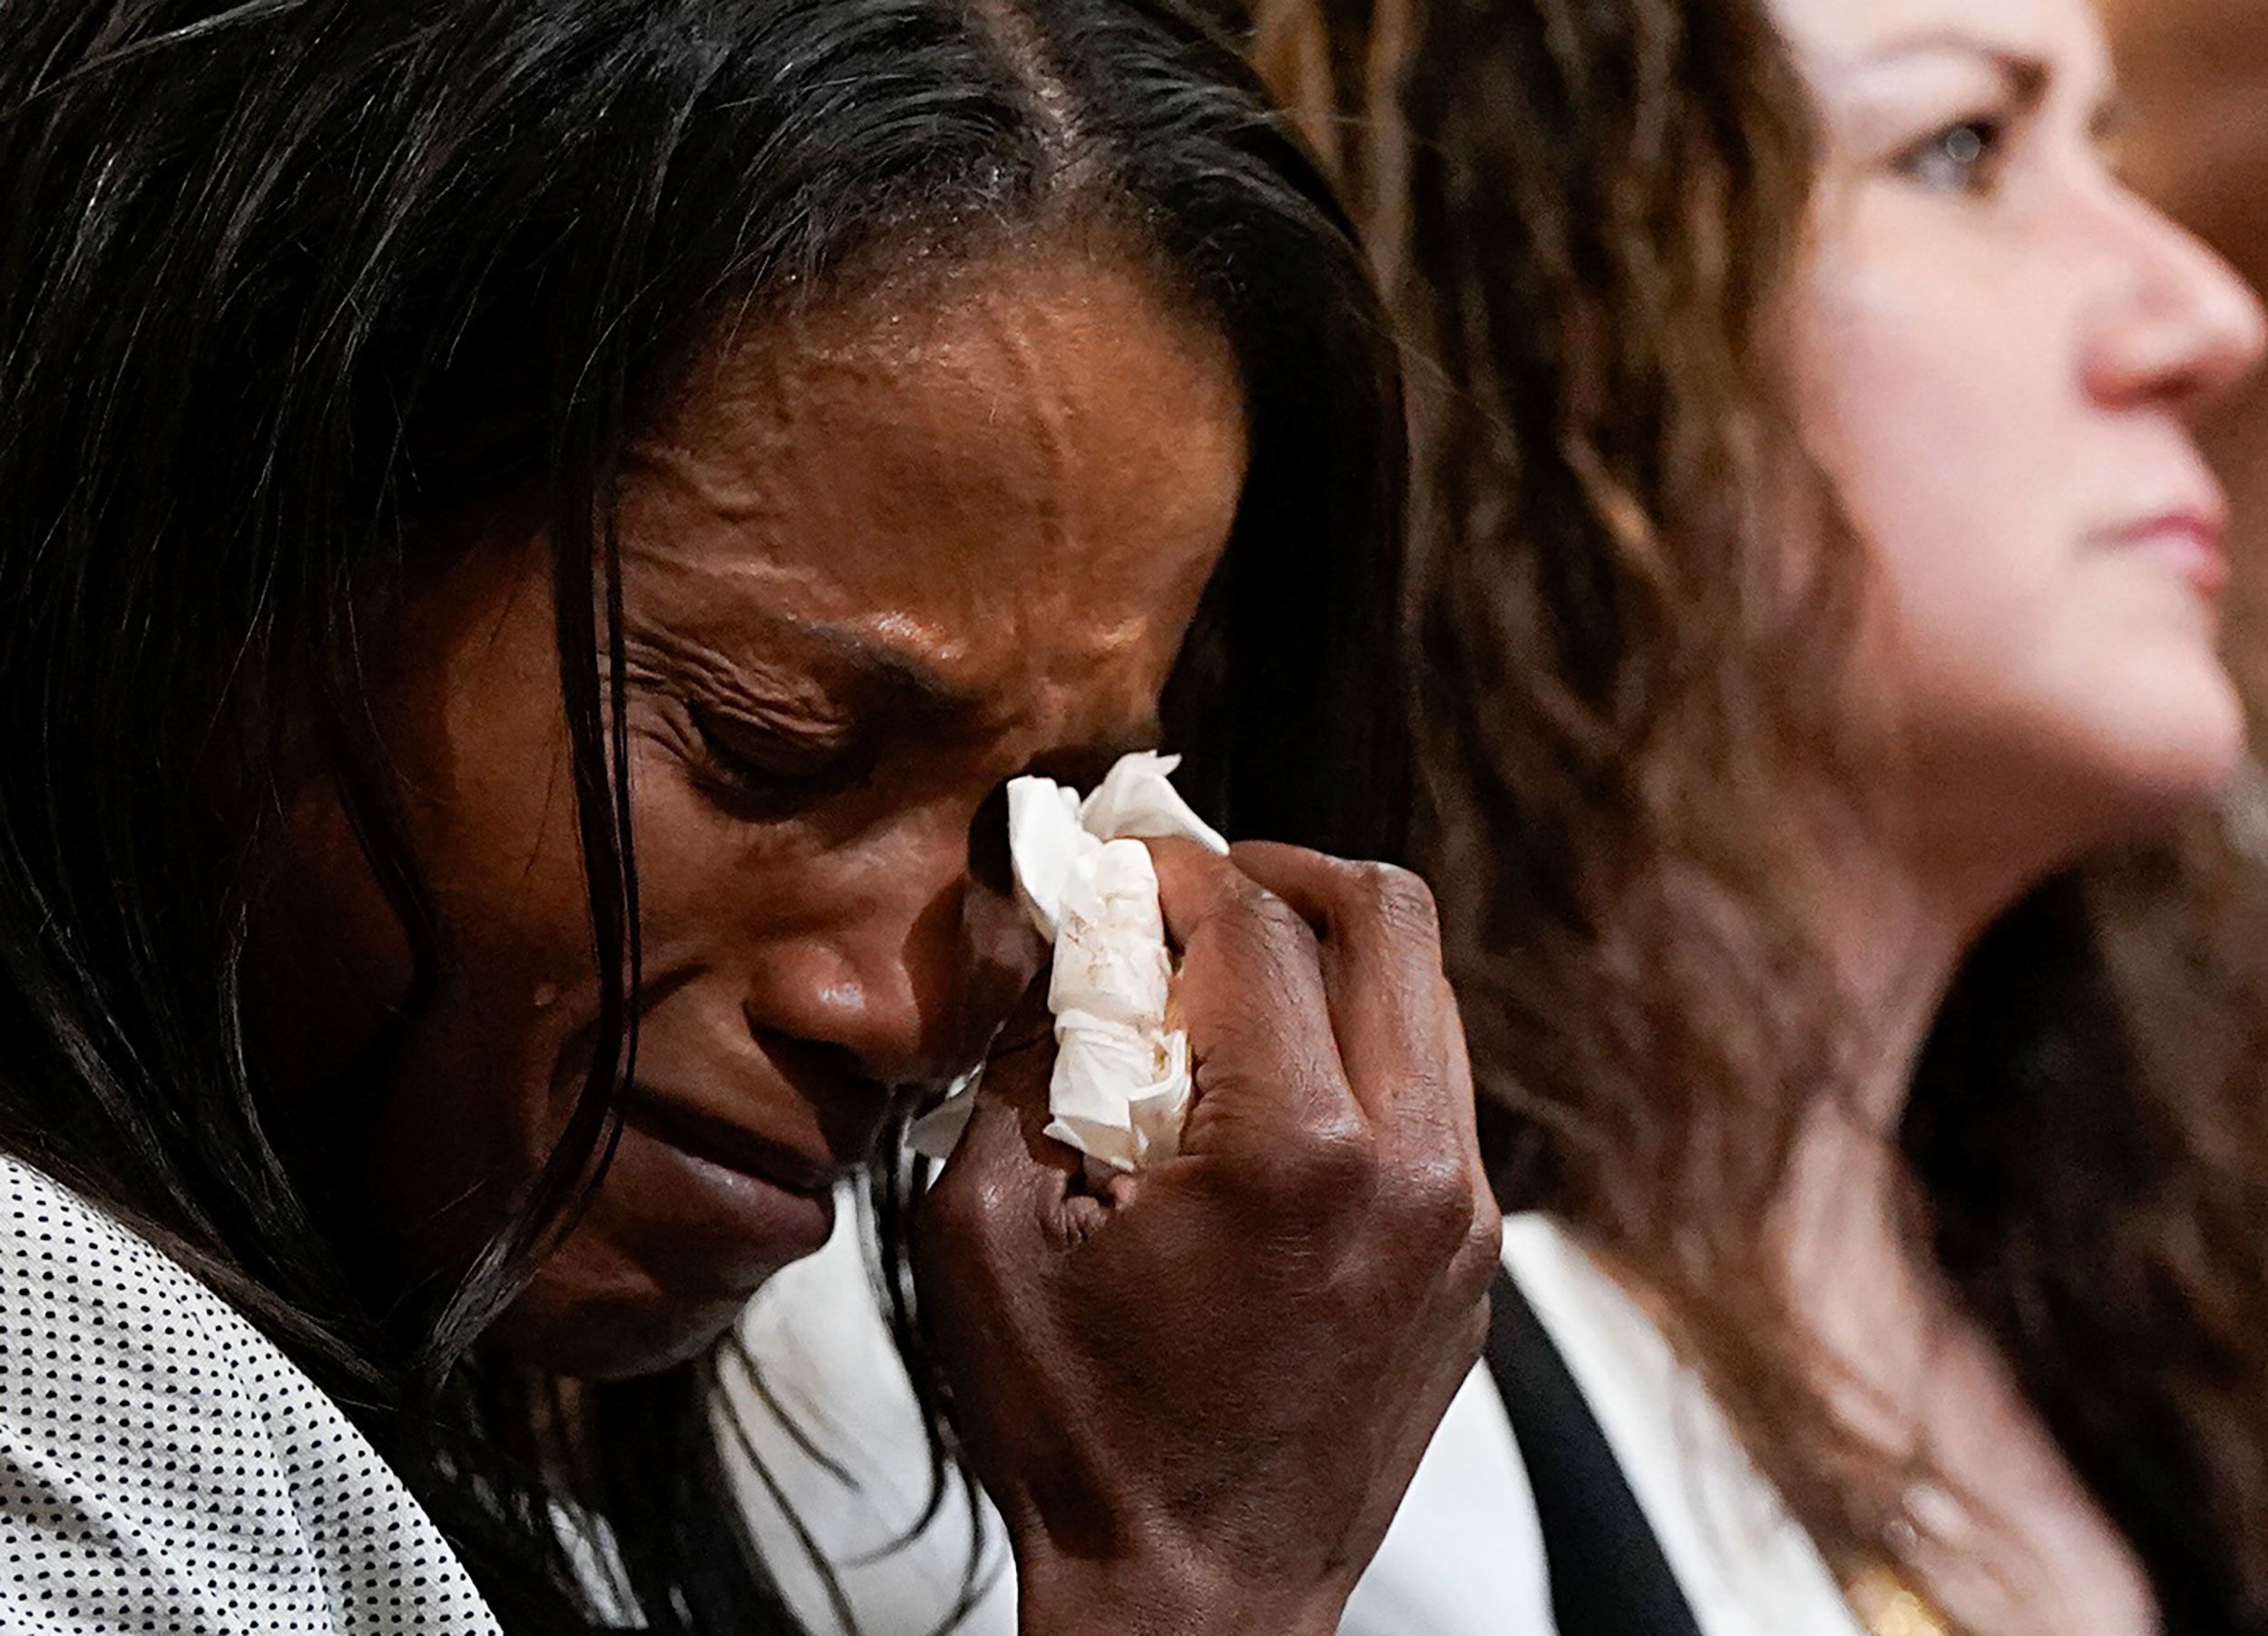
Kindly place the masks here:
<instances>
[{"instance_id":1,"label":"pale face in profile of the woman with wavy brown hair","mask_svg":"<svg viewBox=\"0 0 2268 1636\"><path fill-rule=\"evenodd\" d=\"M2189 419L2261 313L2112 170L2087 0L1776 14L1823 118L1792 363L1871 548L1860 687L1912 841L2005 891L2241 755Z\"/></svg>"}]
</instances>

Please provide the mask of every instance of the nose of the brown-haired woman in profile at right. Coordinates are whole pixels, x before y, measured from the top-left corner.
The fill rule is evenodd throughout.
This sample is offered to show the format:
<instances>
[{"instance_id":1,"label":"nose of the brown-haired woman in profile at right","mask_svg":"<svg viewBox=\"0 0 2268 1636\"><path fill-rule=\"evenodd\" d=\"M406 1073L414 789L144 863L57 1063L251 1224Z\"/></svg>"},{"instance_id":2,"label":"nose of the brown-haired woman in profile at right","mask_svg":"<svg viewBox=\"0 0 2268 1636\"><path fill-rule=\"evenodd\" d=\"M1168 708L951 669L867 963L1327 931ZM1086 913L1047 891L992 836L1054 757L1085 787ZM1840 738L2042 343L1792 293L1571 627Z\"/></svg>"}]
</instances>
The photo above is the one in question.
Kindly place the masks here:
<instances>
[{"instance_id":1,"label":"nose of the brown-haired woman in profile at right","mask_svg":"<svg viewBox=\"0 0 2268 1636\"><path fill-rule=\"evenodd\" d=\"M2116 249L2087 358L2089 392L2109 408L2195 412L2261 360L2268 319L2236 272L2152 206L2123 195L2107 220Z\"/></svg>"}]
</instances>

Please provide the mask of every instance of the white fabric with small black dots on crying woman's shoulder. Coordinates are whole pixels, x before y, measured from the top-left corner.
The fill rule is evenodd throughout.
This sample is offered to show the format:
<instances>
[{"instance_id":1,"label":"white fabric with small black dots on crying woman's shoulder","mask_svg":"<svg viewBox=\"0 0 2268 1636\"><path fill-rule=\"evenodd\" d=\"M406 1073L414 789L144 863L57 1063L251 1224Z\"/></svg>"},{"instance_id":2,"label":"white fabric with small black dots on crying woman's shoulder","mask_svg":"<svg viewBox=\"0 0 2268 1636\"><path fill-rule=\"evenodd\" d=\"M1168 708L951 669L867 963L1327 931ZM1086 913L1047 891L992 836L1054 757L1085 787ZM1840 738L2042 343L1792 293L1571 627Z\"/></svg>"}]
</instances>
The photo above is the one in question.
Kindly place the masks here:
<instances>
[{"instance_id":1,"label":"white fabric with small black dots on crying woman's shoulder","mask_svg":"<svg viewBox=\"0 0 2268 1636\"><path fill-rule=\"evenodd\" d=\"M0 1631L497 1622L290 1360L154 1246L0 1158Z\"/></svg>"}]
</instances>

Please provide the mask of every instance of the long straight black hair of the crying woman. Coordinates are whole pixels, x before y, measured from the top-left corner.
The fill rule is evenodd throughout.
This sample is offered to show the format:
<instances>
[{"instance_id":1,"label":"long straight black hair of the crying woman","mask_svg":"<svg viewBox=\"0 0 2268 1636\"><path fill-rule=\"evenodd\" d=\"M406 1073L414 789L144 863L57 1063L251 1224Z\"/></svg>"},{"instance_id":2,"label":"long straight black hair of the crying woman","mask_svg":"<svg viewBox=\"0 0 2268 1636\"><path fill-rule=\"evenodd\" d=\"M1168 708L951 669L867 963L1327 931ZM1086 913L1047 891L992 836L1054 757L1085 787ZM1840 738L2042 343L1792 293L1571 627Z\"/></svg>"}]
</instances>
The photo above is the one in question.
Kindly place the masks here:
<instances>
[{"instance_id":1,"label":"long straight black hair of the crying woman","mask_svg":"<svg viewBox=\"0 0 2268 1636\"><path fill-rule=\"evenodd\" d=\"M0 1149L236 1301L506 1629L587 1625L535 1398L479 1335L635 1049L621 650L590 641L619 632L626 440L735 315L1102 220L1245 385L1247 487L1168 698L1191 784L1236 829L1381 850L1402 446L1361 258L1175 0L0 0ZM445 958L365 655L499 508L553 542L608 1004L526 1208L404 1314L279 1135L243 954L281 768L315 766L426 979ZM574 1498L651 1629L787 1629L712 1380L585 1403Z\"/></svg>"}]
</instances>

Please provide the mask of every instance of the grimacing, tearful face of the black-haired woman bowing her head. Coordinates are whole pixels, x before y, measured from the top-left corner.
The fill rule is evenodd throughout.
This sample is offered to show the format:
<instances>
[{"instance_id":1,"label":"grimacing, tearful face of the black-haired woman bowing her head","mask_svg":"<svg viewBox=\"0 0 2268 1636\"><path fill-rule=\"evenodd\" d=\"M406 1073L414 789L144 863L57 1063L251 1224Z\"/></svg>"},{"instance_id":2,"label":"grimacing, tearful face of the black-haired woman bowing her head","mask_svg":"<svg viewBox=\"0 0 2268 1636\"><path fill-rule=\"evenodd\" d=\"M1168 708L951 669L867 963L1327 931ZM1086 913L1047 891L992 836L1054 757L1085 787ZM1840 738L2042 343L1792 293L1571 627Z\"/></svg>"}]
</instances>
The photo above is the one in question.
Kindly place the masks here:
<instances>
[{"instance_id":1,"label":"grimacing, tearful face of the black-haired woman bowing her head","mask_svg":"<svg viewBox=\"0 0 2268 1636\"><path fill-rule=\"evenodd\" d=\"M621 508L635 1090L510 1346L585 1375L699 1348L821 1244L894 1094L982 1054L1039 954L982 868L991 798L1157 743L1243 467L1225 342L1068 252L769 324L644 437ZM358 1110L336 1128L390 1255L492 1221L590 1067L547 585L540 539L483 542L415 600L383 689L438 992L392 1017L406 943L336 802L306 804L279 893L306 924L272 945L295 1015L268 1031L304 1094Z\"/></svg>"}]
</instances>

